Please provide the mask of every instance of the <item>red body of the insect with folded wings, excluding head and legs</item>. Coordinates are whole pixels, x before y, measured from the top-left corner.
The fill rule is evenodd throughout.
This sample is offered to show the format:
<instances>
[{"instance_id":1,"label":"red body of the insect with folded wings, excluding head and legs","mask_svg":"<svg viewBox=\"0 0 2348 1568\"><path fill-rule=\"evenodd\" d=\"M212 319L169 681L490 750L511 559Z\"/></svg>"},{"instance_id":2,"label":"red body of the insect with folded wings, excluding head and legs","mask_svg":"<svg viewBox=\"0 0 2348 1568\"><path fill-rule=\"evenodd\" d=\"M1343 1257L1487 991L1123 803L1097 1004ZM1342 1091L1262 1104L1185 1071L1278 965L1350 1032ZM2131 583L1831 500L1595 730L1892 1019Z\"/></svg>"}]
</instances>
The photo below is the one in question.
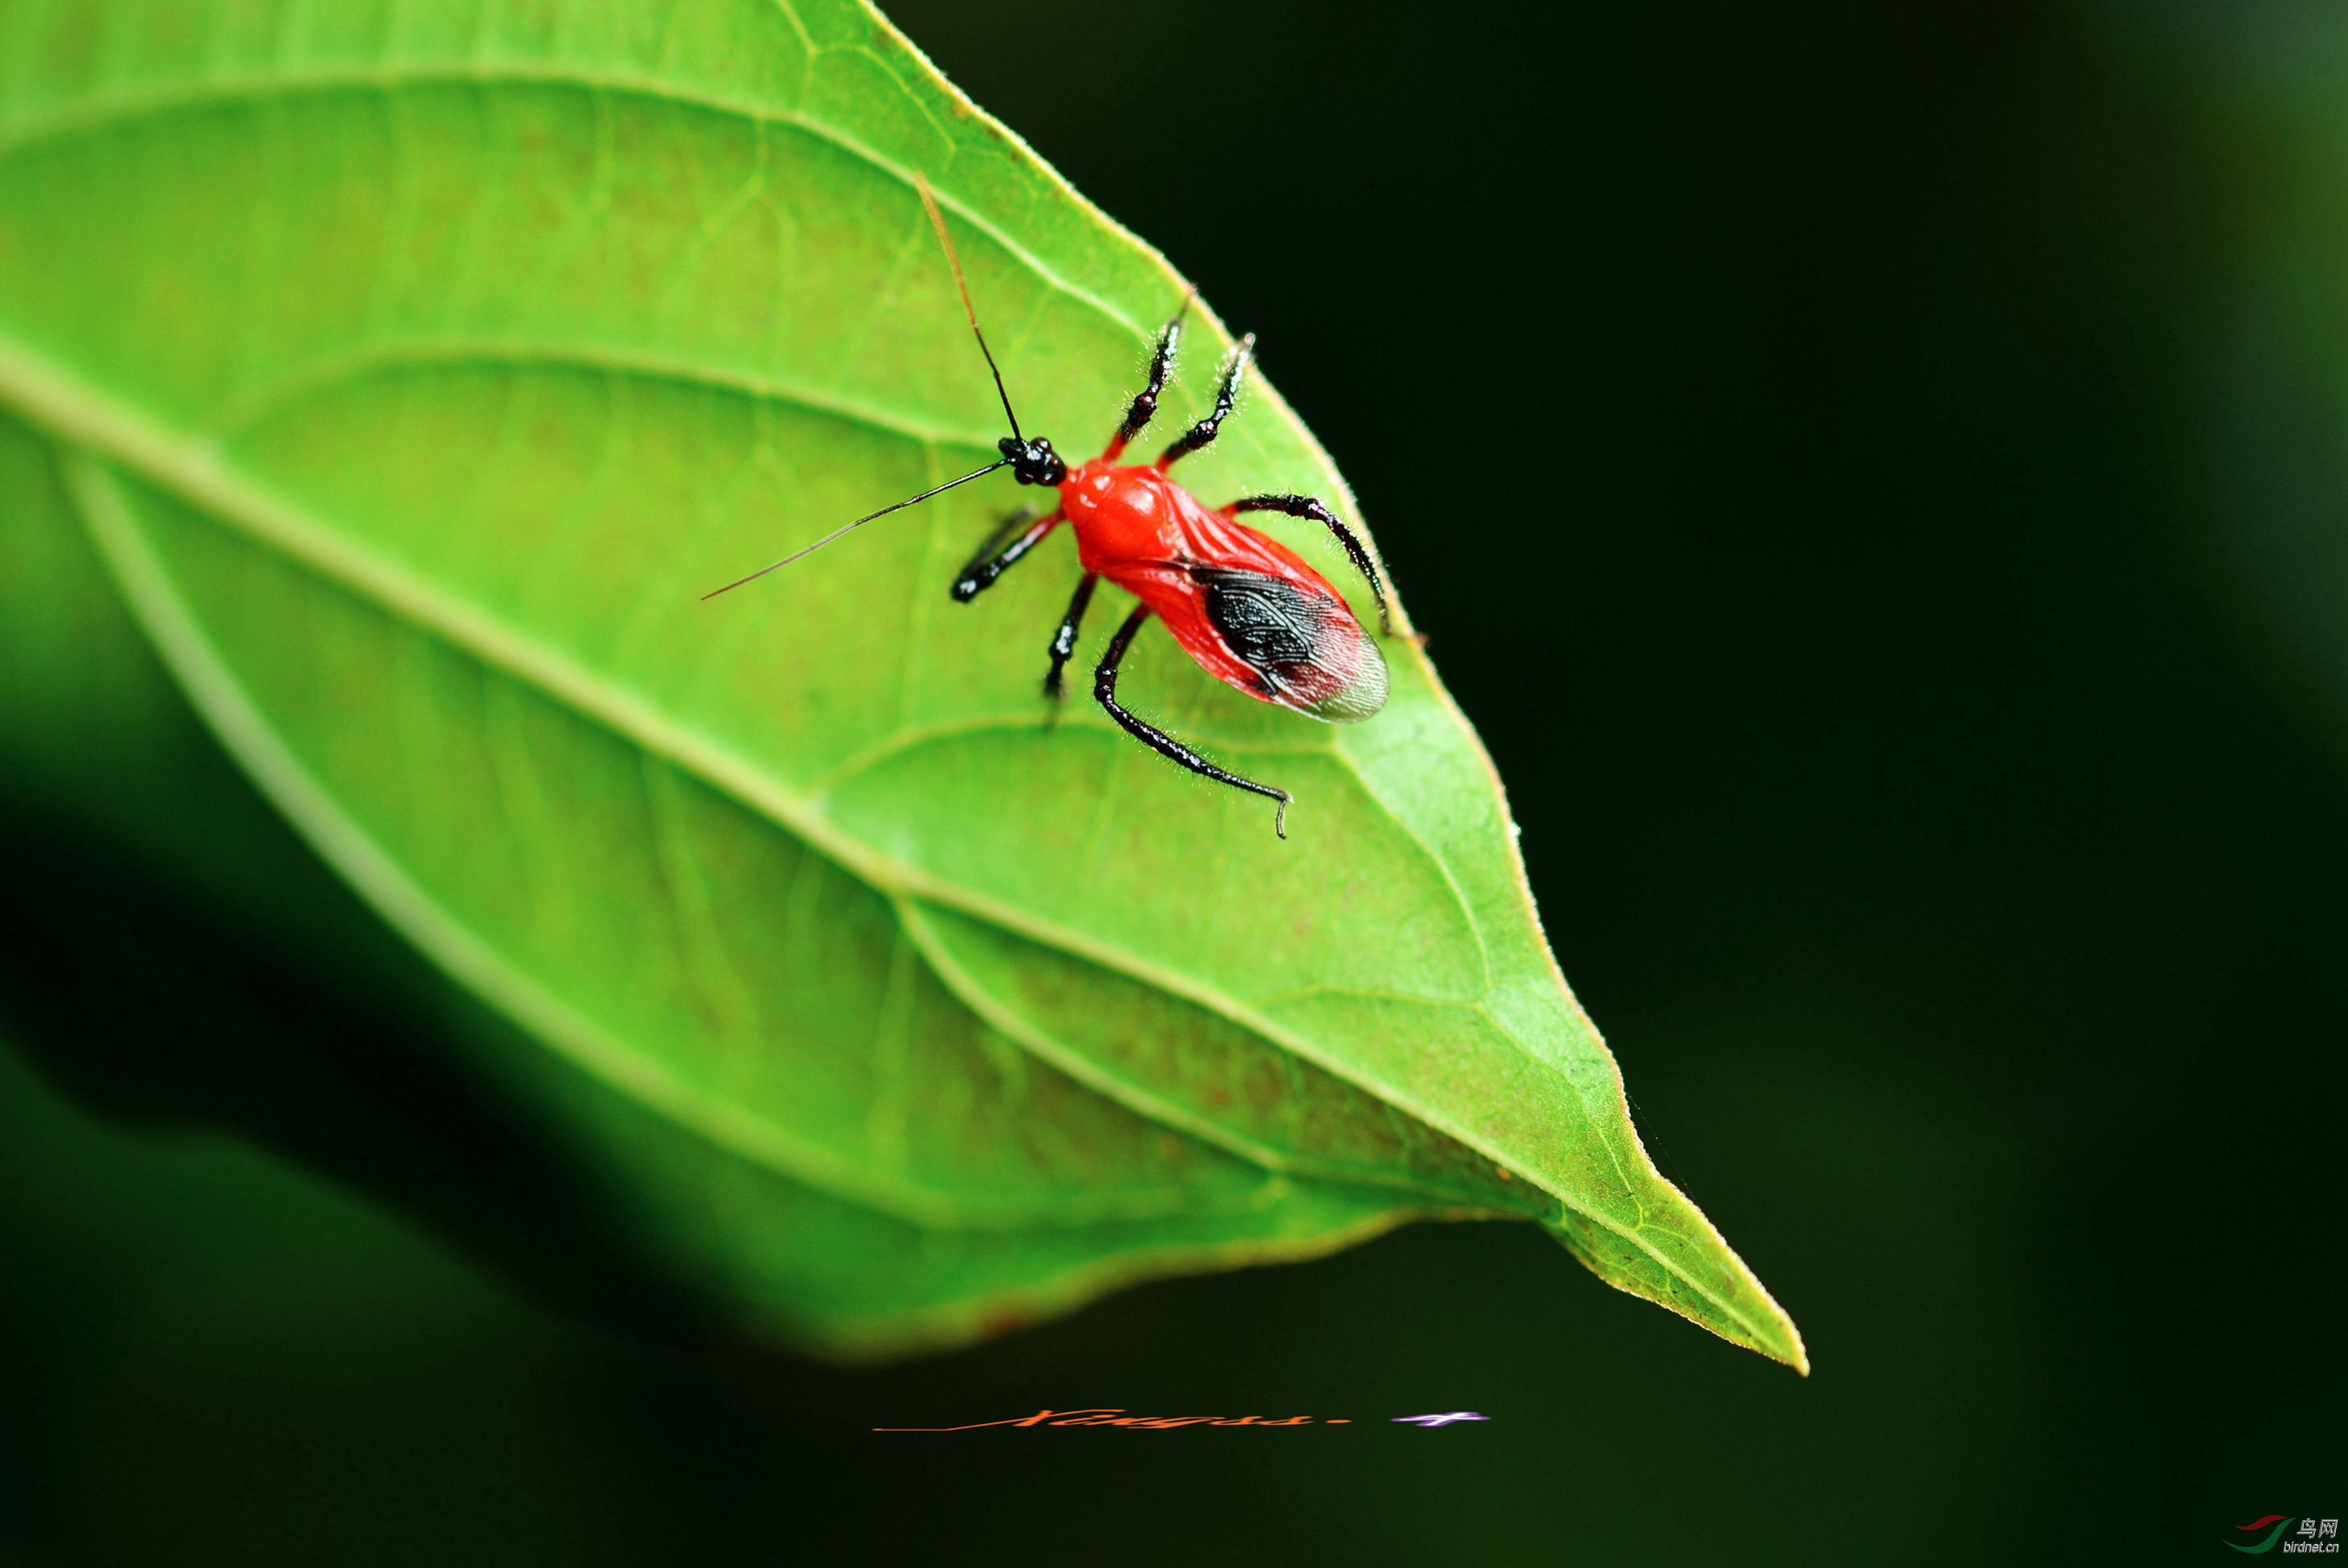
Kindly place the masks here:
<instances>
[{"instance_id":1,"label":"red body of the insect with folded wings, excluding head and legs","mask_svg":"<svg viewBox=\"0 0 2348 1568\"><path fill-rule=\"evenodd\" d=\"M1287 545L1106 458L1071 472L1059 505L1085 570L1146 603L1214 678L1331 723L1385 707L1378 643Z\"/></svg>"}]
</instances>

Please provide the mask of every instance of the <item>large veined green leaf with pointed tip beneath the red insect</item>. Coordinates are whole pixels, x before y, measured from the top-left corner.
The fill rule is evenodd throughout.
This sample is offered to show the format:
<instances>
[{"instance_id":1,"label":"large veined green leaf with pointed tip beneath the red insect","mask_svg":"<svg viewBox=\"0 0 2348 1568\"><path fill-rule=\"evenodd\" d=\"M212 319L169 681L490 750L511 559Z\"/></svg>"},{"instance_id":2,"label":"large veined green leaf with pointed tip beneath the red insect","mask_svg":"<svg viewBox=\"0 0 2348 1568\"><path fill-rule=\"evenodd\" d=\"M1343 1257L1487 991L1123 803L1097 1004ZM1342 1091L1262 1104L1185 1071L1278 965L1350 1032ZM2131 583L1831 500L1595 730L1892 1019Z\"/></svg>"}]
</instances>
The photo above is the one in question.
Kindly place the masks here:
<instances>
[{"instance_id":1,"label":"large veined green leaf with pointed tip beneath the red insect","mask_svg":"<svg viewBox=\"0 0 2348 1568\"><path fill-rule=\"evenodd\" d=\"M1280 843L1263 800L1045 709L1064 540L949 603L1007 484L700 601L991 455L916 171L1064 451L1183 293L876 12L0 16L0 399L214 732L524 1030L472 1049L599 1153L648 1246L888 1354L1524 1216L1806 1366L1648 1164L1411 643L1352 728L1158 631L1127 660L1143 711L1296 793ZM1230 343L1200 319L1167 427ZM1263 383L1183 479L1350 512ZM1270 528L1369 617L1324 538Z\"/></svg>"}]
</instances>

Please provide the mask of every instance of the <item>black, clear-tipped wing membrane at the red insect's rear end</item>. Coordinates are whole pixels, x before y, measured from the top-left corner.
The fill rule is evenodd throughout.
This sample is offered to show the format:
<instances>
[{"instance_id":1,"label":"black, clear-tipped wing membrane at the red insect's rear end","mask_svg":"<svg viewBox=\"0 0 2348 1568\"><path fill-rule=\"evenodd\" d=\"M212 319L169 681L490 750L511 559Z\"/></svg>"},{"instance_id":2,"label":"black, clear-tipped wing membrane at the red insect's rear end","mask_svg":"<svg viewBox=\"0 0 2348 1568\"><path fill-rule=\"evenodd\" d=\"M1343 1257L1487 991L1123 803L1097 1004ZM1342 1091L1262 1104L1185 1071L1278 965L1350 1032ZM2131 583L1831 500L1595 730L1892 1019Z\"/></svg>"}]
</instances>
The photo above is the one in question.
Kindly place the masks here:
<instances>
[{"instance_id":1,"label":"black, clear-tipped wing membrane at the red insect's rear end","mask_svg":"<svg viewBox=\"0 0 2348 1568\"><path fill-rule=\"evenodd\" d=\"M1282 707L1357 723L1385 707L1385 655L1334 589L1233 566L1193 566L1207 624ZM1315 587L1320 592L1315 592Z\"/></svg>"}]
</instances>

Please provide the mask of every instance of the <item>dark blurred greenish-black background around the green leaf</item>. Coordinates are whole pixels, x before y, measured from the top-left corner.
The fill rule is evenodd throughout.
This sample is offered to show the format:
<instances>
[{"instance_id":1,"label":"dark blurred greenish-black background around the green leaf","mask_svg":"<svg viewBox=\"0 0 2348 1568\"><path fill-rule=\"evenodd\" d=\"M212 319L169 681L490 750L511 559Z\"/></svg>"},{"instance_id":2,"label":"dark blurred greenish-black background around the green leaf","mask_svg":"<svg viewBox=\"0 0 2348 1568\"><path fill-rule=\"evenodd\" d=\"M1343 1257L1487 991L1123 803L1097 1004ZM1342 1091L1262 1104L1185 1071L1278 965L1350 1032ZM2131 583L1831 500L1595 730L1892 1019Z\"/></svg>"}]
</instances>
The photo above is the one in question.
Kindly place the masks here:
<instances>
[{"instance_id":1,"label":"dark blurred greenish-black background around the green leaf","mask_svg":"<svg viewBox=\"0 0 2348 1568\"><path fill-rule=\"evenodd\" d=\"M2348 1514L2348 730L2212 434L2292 178L2224 40L892 14L1263 333L1658 1162L1815 1376L1514 1225L880 1373L676 1347L559 1195L385 1162L456 1251L350 1197L383 1171L237 1063L331 1026L385 1122L463 1120L402 1019L19 803L0 871L66 913L0 930L0 1563L2219 1561ZM162 1030L176 1099L103 1049ZM301 1162L157 1131L207 1082ZM1355 1425L866 1432L1043 1404ZM1385 1420L1449 1408L1493 1420Z\"/></svg>"}]
</instances>

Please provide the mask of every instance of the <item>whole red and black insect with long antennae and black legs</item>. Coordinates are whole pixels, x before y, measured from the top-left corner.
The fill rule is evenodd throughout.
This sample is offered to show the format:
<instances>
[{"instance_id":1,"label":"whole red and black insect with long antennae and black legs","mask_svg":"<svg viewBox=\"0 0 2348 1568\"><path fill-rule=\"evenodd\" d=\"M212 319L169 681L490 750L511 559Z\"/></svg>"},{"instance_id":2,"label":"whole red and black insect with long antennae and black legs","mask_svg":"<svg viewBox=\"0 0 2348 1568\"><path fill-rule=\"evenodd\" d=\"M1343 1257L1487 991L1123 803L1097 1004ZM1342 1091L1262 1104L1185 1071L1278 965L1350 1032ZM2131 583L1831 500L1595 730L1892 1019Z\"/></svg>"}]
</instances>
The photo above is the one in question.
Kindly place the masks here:
<instances>
[{"instance_id":1,"label":"whole red and black insect with long antennae and black legs","mask_svg":"<svg viewBox=\"0 0 2348 1568\"><path fill-rule=\"evenodd\" d=\"M1108 446L1092 462L1068 467L1052 451L1052 441L1043 437L1028 439L1019 430L1019 415L1012 413L1012 397L1003 385L1003 371L996 366L993 350L986 347L986 333L979 331L979 312L970 305L970 284L963 279L960 256L953 254L946 216L937 209L937 197L930 195L930 181L916 176L916 185L920 188L923 207L930 211L930 223L937 228L937 239L946 249L946 263L953 268L953 284L963 293L963 315L970 319L970 333L979 340L986 369L996 378L1003 418L1012 427L1012 434L996 441L996 451L1003 455L932 491L880 507L878 512L866 512L805 549L763 566L749 577L737 577L721 589L702 594L702 599L716 599L780 566L815 554L876 516L902 512L953 486L1007 467L1019 484L1057 491L1059 505L1040 516L1038 507L1026 507L1005 519L979 545L979 552L970 556L963 570L956 573L953 599L970 603L1031 549L1043 545L1054 528L1068 523L1075 530L1075 556L1085 575L1078 577L1075 594L1068 599L1068 613L1061 615L1059 629L1045 650L1050 669L1045 671L1043 690L1054 699L1061 697L1061 671L1075 657L1075 636L1085 622L1085 610L1092 606L1092 592L1104 577L1115 582L1141 603L1125 617L1118 634L1108 638L1108 653L1101 655L1101 662L1092 671L1094 702L1127 735L1160 756L1216 784L1277 800L1273 831L1287 838L1289 803L1294 800L1289 791L1216 768L1118 702L1118 669L1125 662L1125 653L1134 646L1141 627L1155 615L1167 624L1167 631L1174 634L1183 653L1197 660L1209 676L1240 688L1259 702L1275 702L1329 723L1359 723L1385 707L1385 655L1362 631L1343 594L1305 566L1287 545L1237 519L1242 512L1282 512L1329 528L1378 601L1378 629L1392 634L1385 584L1378 582L1378 568L1352 528L1313 495L1244 495L1223 507L1207 507L1167 474L1179 460L1214 444L1216 432L1221 432L1223 420L1230 418L1233 404L1240 397L1240 378L1254 354L1256 336L1247 333L1240 338L1223 366L1214 390L1214 411L1207 418L1190 425L1153 462L1120 465L1118 458L1127 444L1148 430L1158 413L1158 394L1165 392L1167 376L1174 369L1174 350L1181 343L1181 324L1190 312L1190 296L1183 296L1174 319L1158 331L1155 347L1151 350L1148 385L1125 411L1125 420L1108 437Z\"/></svg>"}]
</instances>

